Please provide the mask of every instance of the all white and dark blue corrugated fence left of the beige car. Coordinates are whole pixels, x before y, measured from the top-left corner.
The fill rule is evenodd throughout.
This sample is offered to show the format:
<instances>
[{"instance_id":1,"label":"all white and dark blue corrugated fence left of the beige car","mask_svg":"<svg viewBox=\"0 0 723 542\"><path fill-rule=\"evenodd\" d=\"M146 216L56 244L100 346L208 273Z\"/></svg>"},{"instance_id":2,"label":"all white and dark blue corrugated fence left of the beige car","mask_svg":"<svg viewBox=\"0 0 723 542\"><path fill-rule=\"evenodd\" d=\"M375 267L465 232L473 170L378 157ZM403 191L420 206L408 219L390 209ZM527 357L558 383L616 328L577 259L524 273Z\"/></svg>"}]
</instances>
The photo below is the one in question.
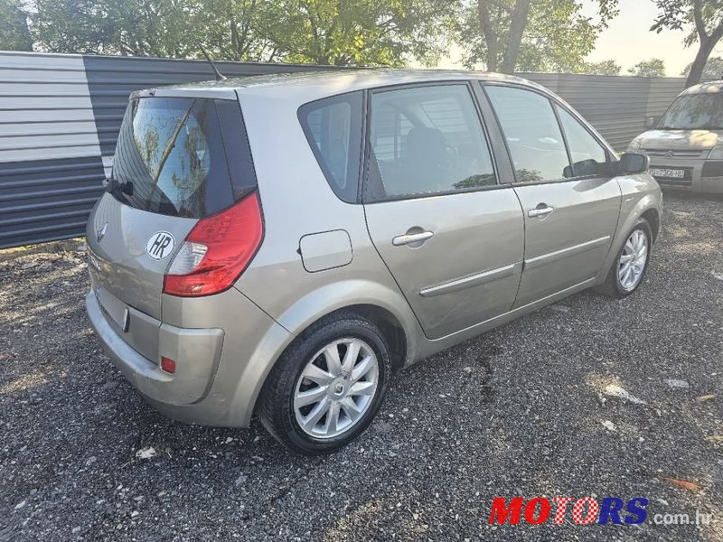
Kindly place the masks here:
<instances>
[{"instance_id":1,"label":"all white and dark blue corrugated fence left of the beige car","mask_svg":"<svg viewBox=\"0 0 723 542\"><path fill-rule=\"evenodd\" d=\"M229 76L320 69L219 67ZM83 235L128 95L213 77L207 61L0 52L0 248Z\"/></svg>"}]
</instances>

